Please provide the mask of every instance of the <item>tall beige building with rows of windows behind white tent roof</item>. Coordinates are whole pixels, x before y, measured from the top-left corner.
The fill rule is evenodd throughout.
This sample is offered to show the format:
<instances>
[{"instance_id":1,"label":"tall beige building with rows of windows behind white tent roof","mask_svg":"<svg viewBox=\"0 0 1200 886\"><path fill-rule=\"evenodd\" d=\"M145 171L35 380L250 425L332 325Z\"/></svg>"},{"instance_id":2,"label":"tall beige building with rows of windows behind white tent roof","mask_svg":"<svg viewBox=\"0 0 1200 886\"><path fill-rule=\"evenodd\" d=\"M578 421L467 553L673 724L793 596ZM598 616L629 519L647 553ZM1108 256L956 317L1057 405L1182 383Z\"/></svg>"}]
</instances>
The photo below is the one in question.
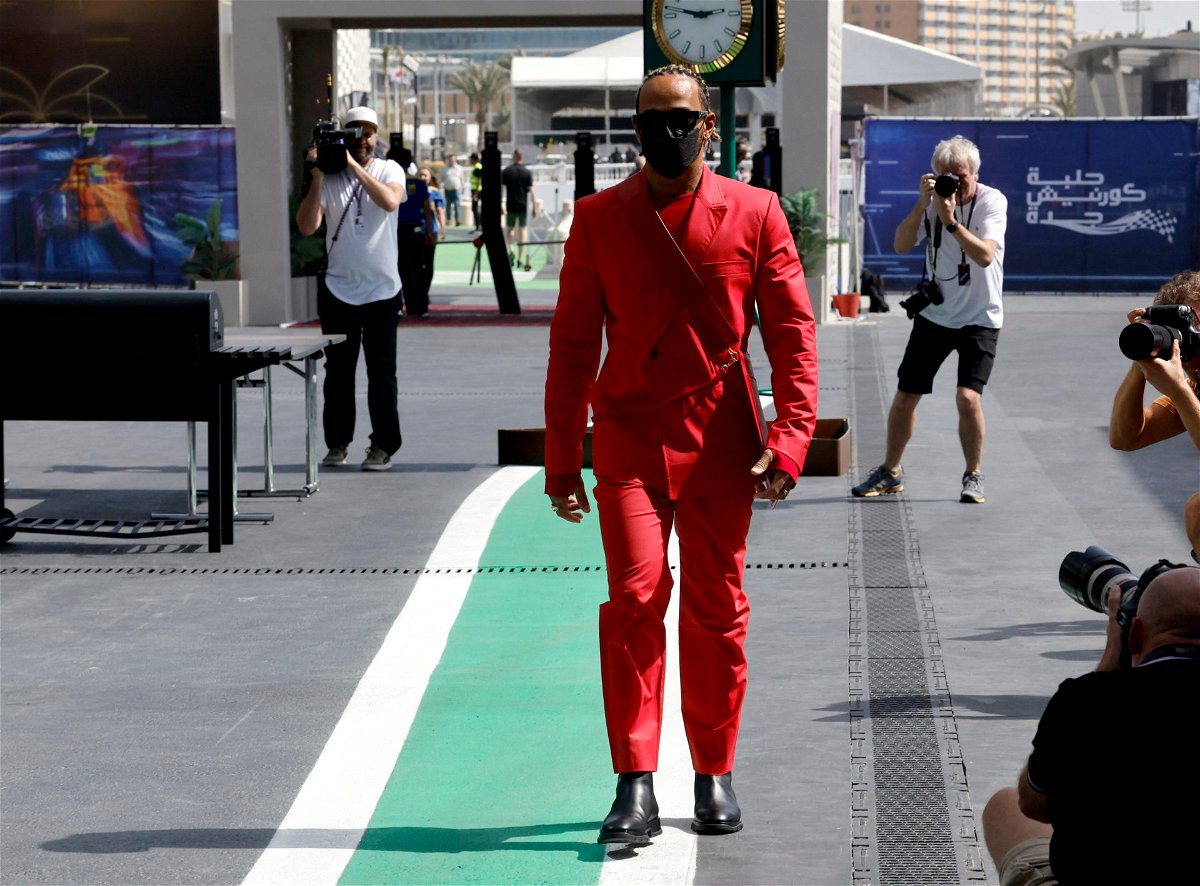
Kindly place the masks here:
<instances>
[{"instance_id":1,"label":"tall beige building with rows of windows behind white tent roof","mask_svg":"<svg viewBox=\"0 0 1200 886\"><path fill-rule=\"evenodd\" d=\"M990 116L1058 108L1070 74L1062 59L1075 31L1074 0L846 0L850 24L973 61Z\"/></svg>"}]
</instances>

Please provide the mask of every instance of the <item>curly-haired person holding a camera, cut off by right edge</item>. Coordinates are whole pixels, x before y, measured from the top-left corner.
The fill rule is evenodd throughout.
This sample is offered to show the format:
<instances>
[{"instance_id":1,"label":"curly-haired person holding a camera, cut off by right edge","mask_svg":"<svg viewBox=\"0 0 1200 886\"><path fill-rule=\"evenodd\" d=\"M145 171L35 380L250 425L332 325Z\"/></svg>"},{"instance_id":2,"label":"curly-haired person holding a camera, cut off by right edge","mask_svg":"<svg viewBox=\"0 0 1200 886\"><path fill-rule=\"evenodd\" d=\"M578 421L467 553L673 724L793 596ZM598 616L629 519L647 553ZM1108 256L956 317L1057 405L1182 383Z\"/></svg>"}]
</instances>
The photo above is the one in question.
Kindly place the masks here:
<instances>
[{"instance_id":1,"label":"curly-haired person holding a camera, cut off by right edge","mask_svg":"<svg viewBox=\"0 0 1200 886\"><path fill-rule=\"evenodd\" d=\"M1190 307L1192 324L1200 323L1200 271L1183 271L1168 280L1154 297L1154 305ZM1129 322L1142 323L1145 313L1145 309L1135 307L1129 312ZM1109 444L1114 449L1144 449L1184 431L1200 449L1200 399L1196 397L1200 348L1195 351L1183 360L1180 341L1174 341L1170 353L1164 351L1160 355L1130 361L1112 399ZM1147 382L1162 396L1142 406ZM1200 559L1200 492L1183 505L1183 523L1192 543L1192 556Z\"/></svg>"}]
</instances>

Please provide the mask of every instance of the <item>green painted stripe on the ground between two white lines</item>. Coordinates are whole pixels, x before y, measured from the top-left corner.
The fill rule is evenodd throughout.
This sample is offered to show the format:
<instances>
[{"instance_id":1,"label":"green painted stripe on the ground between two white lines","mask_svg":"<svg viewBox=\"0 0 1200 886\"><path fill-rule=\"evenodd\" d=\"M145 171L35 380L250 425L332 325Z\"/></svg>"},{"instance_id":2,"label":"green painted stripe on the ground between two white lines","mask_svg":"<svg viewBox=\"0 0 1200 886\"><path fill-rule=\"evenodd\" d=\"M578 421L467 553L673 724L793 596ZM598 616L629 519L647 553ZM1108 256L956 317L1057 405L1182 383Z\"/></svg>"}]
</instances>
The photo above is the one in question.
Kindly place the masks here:
<instances>
[{"instance_id":1,"label":"green painted stripe on the ground between two white lines","mask_svg":"<svg viewBox=\"0 0 1200 886\"><path fill-rule=\"evenodd\" d=\"M600 564L596 516L554 519L536 474L480 567ZM606 575L476 575L342 884L592 884L612 801L596 654Z\"/></svg>"}]
</instances>

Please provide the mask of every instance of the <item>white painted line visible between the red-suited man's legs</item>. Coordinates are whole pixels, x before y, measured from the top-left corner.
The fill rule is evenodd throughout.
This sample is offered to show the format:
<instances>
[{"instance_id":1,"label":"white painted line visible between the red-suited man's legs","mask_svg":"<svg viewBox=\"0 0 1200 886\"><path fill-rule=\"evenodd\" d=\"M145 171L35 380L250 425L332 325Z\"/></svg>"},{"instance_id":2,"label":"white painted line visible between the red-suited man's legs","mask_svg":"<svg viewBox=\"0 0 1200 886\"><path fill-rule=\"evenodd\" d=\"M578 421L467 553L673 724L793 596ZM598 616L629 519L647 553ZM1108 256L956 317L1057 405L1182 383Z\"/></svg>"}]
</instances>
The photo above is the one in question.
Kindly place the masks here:
<instances>
[{"instance_id":1,"label":"white painted line visible between the red-suited man's legs","mask_svg":"<svg viewBox=\"0 0 1200 886\"><path fill-rule=\"evenodd\" d=\"M679 537L673 529L667 558L678 567ZM691 830L696 773L691 768L688 737L683 731L679 698L678 568L674 575L676 586L665 618L667 674L662 681L662 742L659 771L654 773L654 796L659 801L662 834L655 837L650 845L636 850L612 844L600 869L600 886L688 886L696 876L696 834Z\"/></svg>"}]
</instances>

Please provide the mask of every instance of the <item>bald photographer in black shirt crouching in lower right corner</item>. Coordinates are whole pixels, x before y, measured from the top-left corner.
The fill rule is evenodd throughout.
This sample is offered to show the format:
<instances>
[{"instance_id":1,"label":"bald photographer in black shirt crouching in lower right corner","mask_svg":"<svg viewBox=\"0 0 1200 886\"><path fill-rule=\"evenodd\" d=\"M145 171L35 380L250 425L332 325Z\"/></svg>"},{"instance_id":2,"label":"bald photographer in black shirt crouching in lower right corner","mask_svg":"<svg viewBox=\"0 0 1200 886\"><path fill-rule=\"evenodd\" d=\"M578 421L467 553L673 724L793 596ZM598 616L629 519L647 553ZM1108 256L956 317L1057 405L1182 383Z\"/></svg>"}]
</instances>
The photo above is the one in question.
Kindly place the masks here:
<instances>
[{"instance_id":1,"label":"bald photographer in black shirt crouching in lower right corner","mask_svg":"<svg viewBox=\"0 0 1200 886\"><path fill-rule=\"evenodd\" d=\"M1096 672L1058 687L1016 788L983 812L1001 886L1200 882L1200 756L1183 723L1200 684L1200 568L1150 581L1124 639L1117 600Z\"/></svg>"}]
</instances>

